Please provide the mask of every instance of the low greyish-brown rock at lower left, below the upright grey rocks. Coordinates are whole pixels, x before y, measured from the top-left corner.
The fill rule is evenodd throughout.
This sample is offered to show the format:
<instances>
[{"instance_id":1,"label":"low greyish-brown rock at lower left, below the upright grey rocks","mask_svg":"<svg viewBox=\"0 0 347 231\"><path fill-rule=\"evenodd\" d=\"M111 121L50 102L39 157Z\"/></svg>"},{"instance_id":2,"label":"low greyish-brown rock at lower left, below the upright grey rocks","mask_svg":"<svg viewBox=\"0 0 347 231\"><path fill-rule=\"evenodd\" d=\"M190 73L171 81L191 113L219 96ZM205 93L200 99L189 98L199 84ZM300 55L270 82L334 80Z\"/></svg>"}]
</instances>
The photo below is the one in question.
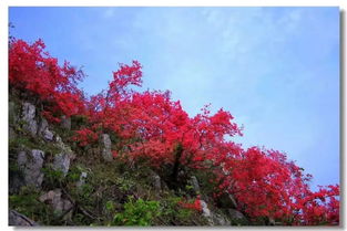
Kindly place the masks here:
<instances>
[{"instance_id":1,"label":"low greyish-brown rock at lower left, below the upright grey rocks","mask_svg":"<svg viewBox=\"0 0 347 231\"><path fill-rule=\"evenodd\" d=\"M64 212L72 208L72 203L62 198L61 189L51 190L42 195L39 200L51 204L55 212Z\"/></svg>"}]
</instances>

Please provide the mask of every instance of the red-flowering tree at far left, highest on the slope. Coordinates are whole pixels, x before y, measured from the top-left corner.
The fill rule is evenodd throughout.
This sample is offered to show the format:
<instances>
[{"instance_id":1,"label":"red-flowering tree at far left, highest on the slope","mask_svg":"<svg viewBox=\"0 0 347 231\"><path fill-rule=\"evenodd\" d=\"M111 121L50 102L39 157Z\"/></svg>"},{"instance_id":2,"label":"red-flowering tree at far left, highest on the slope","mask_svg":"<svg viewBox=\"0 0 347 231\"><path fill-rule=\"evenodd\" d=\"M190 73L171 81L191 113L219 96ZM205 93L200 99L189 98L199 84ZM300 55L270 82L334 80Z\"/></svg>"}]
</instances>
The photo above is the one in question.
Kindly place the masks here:
<instances>
[{"instance_id":1,"label":"red-flowering tree at far left, highest on the slope","mask_svg":"<svg viewBox=\"0 0 347 231\"><path fill-rule=\"evenodd\" d=\"M43 115L51 122L59 122L61 115L83 114L83 93L76 87L83 73L69 62L60 66L57 59L44 52L44 48L41 40L31 45L22 40L10 41L10 87L40 99L44 105Z\"/></svg>"}]
</instances>

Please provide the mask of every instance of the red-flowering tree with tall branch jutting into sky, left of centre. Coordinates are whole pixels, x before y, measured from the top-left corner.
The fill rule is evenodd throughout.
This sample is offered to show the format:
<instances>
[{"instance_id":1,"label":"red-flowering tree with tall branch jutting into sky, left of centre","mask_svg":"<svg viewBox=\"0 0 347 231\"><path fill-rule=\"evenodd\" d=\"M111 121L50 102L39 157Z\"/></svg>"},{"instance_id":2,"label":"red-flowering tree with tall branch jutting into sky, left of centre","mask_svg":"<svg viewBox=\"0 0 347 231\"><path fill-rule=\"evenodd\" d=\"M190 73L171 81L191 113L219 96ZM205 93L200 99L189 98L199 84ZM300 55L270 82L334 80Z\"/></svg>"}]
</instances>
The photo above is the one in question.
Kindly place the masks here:
<instances>
[{"instance_id":1,"label":"red-flowering tree with tall branch jutting into sky, left of centre","mask_svg":"<svg viewBox=\"0 0 347 231\"><path fill-rule=\"evenodd\" d=\"M141 86L141 64L137 61L133 61L132 65L120 64L120 70L113 72L113 80L109 83L108 90L91 96L85 102L84 115L90 127L83 127L76 132L74 138L80 146L96 141L95 137L108 132L130 138L129 135L126 136L130 134L126 117L131 113L127 103L133 94L130 86Z\"/></svg>"}]
</instances>

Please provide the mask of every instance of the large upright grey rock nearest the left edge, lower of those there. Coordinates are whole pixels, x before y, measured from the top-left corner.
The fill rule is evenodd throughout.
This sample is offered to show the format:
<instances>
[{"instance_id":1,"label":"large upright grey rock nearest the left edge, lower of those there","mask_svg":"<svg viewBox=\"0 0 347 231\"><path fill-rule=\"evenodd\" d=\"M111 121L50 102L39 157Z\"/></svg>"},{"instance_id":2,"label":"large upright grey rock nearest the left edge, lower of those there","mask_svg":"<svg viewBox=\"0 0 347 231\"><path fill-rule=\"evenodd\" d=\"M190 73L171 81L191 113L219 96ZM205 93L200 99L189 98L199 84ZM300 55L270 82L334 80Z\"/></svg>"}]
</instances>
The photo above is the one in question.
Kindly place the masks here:
<instances>
[{"instance_id":1,"label":"large upright grey rock nearest the left edge, lower of those there","mask_svg":"<svg viewBox=\"0 0 347 231\"><path fill-rule=\"evenodd\" d=\"M31 151L20 151L18 154L17 164L23 172L24 183L37 188L41 187L43 174L41 168L43 165L44 153L33 149Z\"/></svg>"}]
</instances>

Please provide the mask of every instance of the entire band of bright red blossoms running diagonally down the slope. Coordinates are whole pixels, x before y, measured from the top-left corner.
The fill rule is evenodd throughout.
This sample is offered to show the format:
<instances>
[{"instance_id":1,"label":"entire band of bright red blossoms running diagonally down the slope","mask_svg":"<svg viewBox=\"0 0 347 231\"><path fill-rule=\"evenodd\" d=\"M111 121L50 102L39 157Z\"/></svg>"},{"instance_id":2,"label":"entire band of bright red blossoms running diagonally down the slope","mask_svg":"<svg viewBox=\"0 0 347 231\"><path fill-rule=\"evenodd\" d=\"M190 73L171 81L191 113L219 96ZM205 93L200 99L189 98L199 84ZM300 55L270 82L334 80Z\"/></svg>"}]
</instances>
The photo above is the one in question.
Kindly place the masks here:
<instances>
[{"instance_id":1,"label":"entire band of bright red blossoms running diagonally down the slope","mask_svg":"<svg viewBox=\"0 0 347 231\"><path fill-rule=\"evenodd\" d=\"M181 169L208 172L214 197L232 193L238 210L252 219L272 218L284 224L339 224L339 186L322 187L313 192L312 178L285 154L259 147L244 149L231 140L242 136L231 113L220 109L211 115L208 106L190 117L170 92L145 91L141 86L141 64L120 64L109 87L85 98L76 87L82 73L69 63L43 52L41 40L32 45L12 40L9 49L10 87L29 92L43 102L42 114L51 122L59 116L82 115L89 127L75 130L80 146L95 143L101 133L119 138L114 157L127 161L145 160L157 169L170 169L171 182L177 182ZM226 139L226 137L228 137ZM197 198L181 202L201 211Z\"/></svg>"}]
</instances>

